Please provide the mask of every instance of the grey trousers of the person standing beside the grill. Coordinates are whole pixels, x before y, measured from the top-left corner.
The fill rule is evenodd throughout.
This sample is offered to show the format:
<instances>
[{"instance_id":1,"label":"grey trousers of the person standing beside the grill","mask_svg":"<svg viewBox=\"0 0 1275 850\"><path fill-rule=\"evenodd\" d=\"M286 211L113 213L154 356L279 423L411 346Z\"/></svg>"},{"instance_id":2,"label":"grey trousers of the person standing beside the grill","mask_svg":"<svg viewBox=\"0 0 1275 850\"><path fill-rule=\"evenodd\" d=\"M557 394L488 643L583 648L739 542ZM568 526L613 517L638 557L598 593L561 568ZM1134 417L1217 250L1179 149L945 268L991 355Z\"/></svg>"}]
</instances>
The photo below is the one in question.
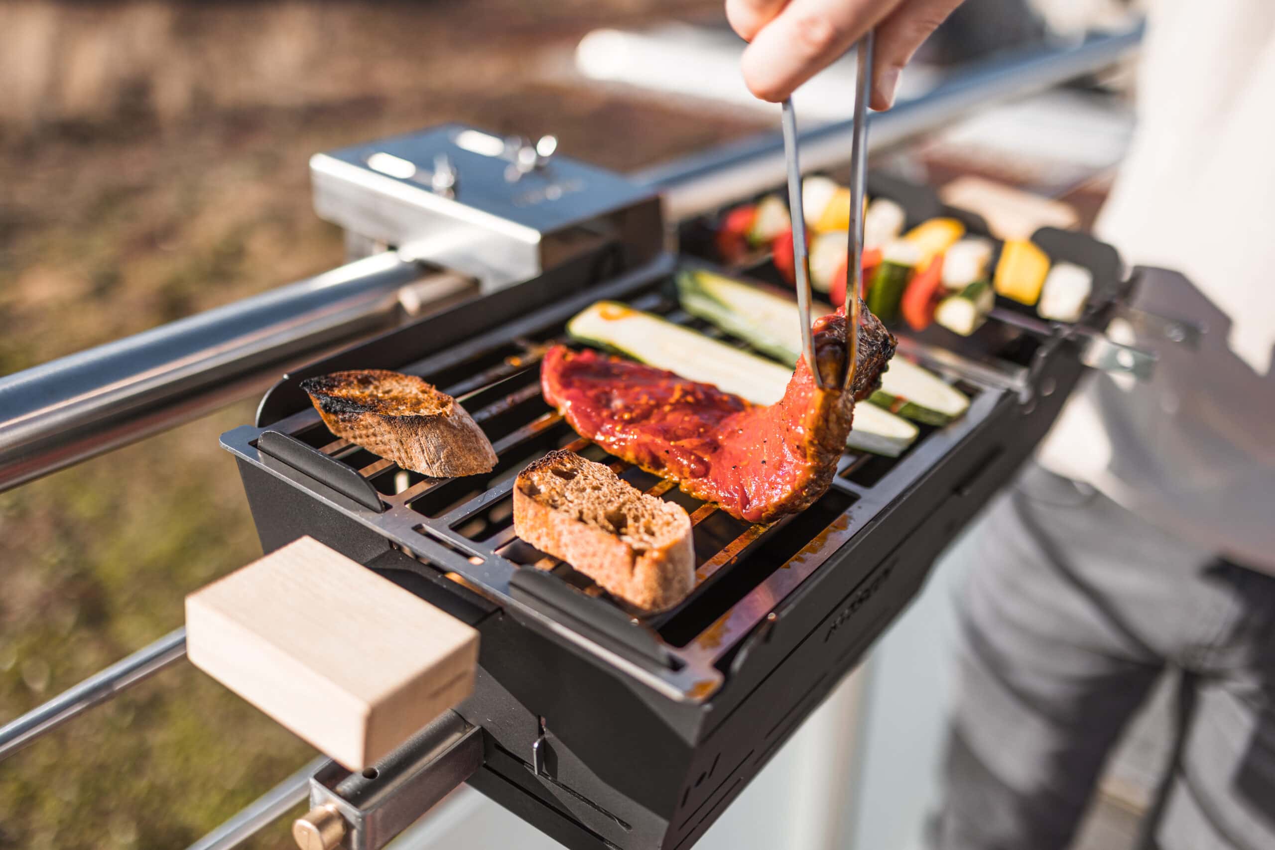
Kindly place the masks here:
<instances>
[{"instance_id":1,"label":"grey trousers of the person standing beside the grill","mask_svg":"<svg viewBox=\"0 0 1275 850\"><path fill-rule=\"evenodd\" d=\"M1144 846L1275 850L1275 577L1037 465L972 533L937 847L1067 847L1174 666L1179 739Z\"/></svg>"}]
</instances>

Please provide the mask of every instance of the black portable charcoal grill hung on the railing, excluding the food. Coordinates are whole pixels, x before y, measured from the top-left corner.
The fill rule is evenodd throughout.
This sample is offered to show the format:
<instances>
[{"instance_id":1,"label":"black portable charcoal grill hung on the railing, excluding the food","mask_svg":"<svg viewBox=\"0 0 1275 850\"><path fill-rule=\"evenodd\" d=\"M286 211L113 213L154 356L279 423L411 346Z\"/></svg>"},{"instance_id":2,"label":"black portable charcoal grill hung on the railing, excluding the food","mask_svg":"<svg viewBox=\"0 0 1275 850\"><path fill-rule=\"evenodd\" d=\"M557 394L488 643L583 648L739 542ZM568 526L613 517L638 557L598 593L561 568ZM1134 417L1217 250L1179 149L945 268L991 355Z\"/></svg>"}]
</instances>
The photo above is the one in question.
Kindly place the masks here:
<instances>
[{"instance_id":1,"label":"black portable charcoal grill hung on the railing, excluding the food","mask_svg":"<svg viewBox=\"0 0 1275 850\"><path fill-rule=\"evenodd\" d=\"M427 148L437 141L418 138L430 140ZM398 144L395 155L439 162L436 150L411 148ZM380 192L377 181L365 189ZM870 178L868 189L903 204L910 222L959 213L943 210L928 190L884 176ZM578 191L586 195L588 187ZM639 205L649 223L646 196L636 192L626 203ZM576 204L585 210L589 199ZM370 205L360 206L366 226ZM606 215L623 227L594 219L583 228L589 238L578 241L585 249L530 280L287 375L263 399L255 426L222 437L266 552L310 535L481 635L473 696L435 724L441 738L409 742L363 775L338 770L312 780L311 802L332 803L353 826L342 846L381 846L393 830L377 832L374 821L391 809L398 828L423 813L439 794L403 789L418 789L431 771L448 788L468 779L574 849L694 845L1039 442L1082 361L1094 357L1102 339L1095 329L1132 285L1108 246L1079 233L1037 233L1056 261L1094 273L1085 322L1049 333L989 322L959 345L936 334L900 334L899 356L955 382L970 396L969 410L942 428L922 426L899 457L847 451L833 487L812 507L747 525L578 437L541 398L543 352L565 340L566 321L597 299L717 334L681 311L671 277L678 264L704 264L687 257L705 245L711 217L673 234L687 252L678 256L648 250L658 232L641 231L640 250L626 245L634 219L613 213ZM986 232L977 217L959 214ZM765 259L757 260L754 270L764 277ZM1098 348L1100 357L1105 349ZM455 396L487 433L497 466L433 479L334 437L298 384L344 368L419 375ZM558 447L607 463L638 488L686 507L697 585L683 603L638 616L515 537L514 478ZM463 770L448 756L460 740L469 753ZM366 804L374 796L376 805Z\"/></svg>"}]
</instances>

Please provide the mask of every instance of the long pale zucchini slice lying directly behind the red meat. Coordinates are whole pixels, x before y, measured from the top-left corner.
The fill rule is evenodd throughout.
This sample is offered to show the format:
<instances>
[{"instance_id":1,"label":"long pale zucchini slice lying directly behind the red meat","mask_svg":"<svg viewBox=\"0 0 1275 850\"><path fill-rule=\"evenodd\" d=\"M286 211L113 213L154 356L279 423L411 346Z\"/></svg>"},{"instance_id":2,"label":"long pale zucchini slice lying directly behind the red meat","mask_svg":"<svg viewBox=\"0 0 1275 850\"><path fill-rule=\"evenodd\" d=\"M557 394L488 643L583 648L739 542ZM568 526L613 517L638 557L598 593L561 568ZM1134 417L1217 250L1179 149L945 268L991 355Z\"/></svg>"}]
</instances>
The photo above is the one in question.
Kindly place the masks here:
<instances>
[{"instance_id":1,"label":"long pale zucchini slice lying directly behind the red meat","mask_svg":"<svg viewBox=\"0 0 1275 850\"><path fill-rule=\"evenodd\" d=\"M754 404L774 404L792 378L792 370L774 361L613 301L586 307L566 329L580 342L621 352L691 381L713 384ZM845 445L896 457L917 435L917 426L907 419L864 404L854 412L854 428Z\"/></svg>"}]
</instances>

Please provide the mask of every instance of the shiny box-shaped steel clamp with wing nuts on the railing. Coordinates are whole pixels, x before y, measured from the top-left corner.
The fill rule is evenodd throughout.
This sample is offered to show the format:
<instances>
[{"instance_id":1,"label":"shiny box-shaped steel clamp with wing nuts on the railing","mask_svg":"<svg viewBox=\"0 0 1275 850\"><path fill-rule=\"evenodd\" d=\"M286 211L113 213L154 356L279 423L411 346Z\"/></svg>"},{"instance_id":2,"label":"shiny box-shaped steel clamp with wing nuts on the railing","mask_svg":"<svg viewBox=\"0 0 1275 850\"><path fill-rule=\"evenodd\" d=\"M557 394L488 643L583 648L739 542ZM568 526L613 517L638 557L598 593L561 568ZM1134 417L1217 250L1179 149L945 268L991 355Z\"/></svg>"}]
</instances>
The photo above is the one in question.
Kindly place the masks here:
<instances>
[{"instance_id":1,"label":"shiny box-shaped steel clamp with wing nuts on the railing","mask_svg":"<svg viewBox=\"0 0 1275 850\"><path fill-rule=\"evenodd\" d=\"M627 177L534 144L449 124L315 154L320 218L356 242L470 275L483 294L615 245L626 266L655 256L659 198Z\"/></svg>"}]
</instances>

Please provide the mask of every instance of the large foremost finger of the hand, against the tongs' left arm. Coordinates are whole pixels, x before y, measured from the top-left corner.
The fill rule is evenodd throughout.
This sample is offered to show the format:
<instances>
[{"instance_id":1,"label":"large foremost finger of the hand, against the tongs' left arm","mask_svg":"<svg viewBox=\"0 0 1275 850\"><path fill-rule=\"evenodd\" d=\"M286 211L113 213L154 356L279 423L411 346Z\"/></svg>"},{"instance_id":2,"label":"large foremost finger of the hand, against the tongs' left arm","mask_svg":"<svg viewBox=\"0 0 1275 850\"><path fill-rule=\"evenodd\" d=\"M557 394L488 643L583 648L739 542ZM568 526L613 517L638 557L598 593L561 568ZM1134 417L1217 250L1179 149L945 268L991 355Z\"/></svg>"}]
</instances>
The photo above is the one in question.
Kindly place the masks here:
<instances>
[{"instance_id":1,"label":"large foremost finger of the hand, against the tongs' left arm","mask_svg":"<svg viewBox=\"0 0 1275 850\"><path fill-rule=\"evenodd\" d=\"M899 0L792 0L743 51L745 83L764 101L783 101L896 5Z\"/></svg>"}]
</instances>

